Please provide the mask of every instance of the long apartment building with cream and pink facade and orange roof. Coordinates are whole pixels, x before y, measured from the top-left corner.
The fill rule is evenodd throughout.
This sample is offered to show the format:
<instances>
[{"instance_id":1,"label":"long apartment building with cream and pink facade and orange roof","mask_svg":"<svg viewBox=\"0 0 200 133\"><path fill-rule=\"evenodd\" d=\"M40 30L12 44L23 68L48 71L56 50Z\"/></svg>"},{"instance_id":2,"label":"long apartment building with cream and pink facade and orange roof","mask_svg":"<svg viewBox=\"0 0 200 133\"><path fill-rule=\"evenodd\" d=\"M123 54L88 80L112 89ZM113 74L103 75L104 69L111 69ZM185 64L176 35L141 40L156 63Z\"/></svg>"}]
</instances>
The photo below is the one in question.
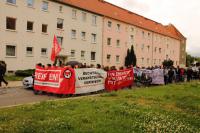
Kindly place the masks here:
<instances>
[{"instance_id":1,"label":"long apartment building with cream and pink facade and orange roof","mask_svg":"<svg viewBox=\"0 0 200 133\"><path fill-rule=\"evenodd\" d=\"M54 34L62 62L120 67L131 45L140 67L186 62L186 38L175 26L103 0L3 0L0 6L0 60L10 71L51 63Z\"/></svg>"}]
</instances>

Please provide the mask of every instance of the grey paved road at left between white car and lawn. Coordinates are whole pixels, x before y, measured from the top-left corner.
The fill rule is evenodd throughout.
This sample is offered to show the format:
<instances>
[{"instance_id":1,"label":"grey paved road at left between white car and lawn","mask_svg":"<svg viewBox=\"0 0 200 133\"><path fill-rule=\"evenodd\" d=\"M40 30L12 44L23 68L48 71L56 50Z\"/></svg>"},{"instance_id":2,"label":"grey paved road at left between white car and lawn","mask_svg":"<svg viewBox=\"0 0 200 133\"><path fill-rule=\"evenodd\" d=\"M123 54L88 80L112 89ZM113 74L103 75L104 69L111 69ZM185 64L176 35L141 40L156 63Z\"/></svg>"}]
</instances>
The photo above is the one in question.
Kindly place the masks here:
<instances>
[{"instance_id":1,"label":"grey paved road at left between white car and lawn","mask_svg":"<svg viewBox=\"0 0 200 133\"><path fill-rule=\"evenodd\" d=\"M0 108L53 99L58 99L58 97L48 95L35 95L33 90L27 90L23 87L0 88Z\"/></svg>"}]
</instances>

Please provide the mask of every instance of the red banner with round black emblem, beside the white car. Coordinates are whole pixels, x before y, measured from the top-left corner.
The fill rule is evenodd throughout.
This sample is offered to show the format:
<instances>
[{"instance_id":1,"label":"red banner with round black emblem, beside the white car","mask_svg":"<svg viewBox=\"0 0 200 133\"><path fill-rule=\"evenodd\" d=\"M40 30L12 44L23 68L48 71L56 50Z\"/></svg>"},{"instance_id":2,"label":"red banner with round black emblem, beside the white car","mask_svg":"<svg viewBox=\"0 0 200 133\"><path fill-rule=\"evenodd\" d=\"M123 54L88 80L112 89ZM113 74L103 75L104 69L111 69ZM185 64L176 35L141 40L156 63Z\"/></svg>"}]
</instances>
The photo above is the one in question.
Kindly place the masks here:
<instances>
[{"instance_id":1,"label":"red banner with round black emblem, beside the white car","mask_svg":"<svg viewBox=\"0 0 200 133\"><path fill-rule=\"evenodd\" d=\"M55 94L74 94L75 71L69 67L46 69L36 66L34 89Z\"/></svg>"}]
</instances>

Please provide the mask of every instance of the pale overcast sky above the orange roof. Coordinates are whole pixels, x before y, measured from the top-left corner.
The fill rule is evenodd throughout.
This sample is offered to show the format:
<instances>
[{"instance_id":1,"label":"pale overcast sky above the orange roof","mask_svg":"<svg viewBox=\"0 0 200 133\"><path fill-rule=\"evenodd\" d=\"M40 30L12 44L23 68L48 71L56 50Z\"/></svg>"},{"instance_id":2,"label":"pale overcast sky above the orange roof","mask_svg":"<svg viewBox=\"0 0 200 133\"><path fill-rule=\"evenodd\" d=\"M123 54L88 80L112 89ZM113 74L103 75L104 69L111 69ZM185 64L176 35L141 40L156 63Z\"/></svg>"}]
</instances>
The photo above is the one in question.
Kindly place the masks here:
<instances>
[{"instance_id":1,"label":"pale overcast sky above the orange roof","mask_svg":"<svg viewBox=\"0 0 200 133\"><path fill-rule=\"evenodd\" d=\"M187 38L187 52L200 57L200 0L105 0L167 25Z\"/></svg>"}]
</instances>

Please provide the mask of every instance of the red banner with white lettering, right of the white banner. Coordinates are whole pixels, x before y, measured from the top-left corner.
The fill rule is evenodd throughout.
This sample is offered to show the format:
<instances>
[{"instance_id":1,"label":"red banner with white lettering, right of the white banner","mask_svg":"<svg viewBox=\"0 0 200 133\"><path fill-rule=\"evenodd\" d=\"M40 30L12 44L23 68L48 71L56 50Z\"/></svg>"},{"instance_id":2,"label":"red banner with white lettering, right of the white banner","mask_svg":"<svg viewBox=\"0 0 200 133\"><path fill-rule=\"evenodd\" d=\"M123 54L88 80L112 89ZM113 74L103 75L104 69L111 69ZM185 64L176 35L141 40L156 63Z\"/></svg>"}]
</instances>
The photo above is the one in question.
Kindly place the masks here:
<instances>
[{"instance_id":1,"label":"red banner with white lettering, right of the white banner","mask_svg":"<svg viewBox=\"0 0 200 133\"><path fill-rule=\"evenodd\" d=\"M105 87L108 91L119 90L124 87L131 86L133 84L133 80L133 68L119 71L109 71L107 73Z\"/></svg>"}]
</instances>

